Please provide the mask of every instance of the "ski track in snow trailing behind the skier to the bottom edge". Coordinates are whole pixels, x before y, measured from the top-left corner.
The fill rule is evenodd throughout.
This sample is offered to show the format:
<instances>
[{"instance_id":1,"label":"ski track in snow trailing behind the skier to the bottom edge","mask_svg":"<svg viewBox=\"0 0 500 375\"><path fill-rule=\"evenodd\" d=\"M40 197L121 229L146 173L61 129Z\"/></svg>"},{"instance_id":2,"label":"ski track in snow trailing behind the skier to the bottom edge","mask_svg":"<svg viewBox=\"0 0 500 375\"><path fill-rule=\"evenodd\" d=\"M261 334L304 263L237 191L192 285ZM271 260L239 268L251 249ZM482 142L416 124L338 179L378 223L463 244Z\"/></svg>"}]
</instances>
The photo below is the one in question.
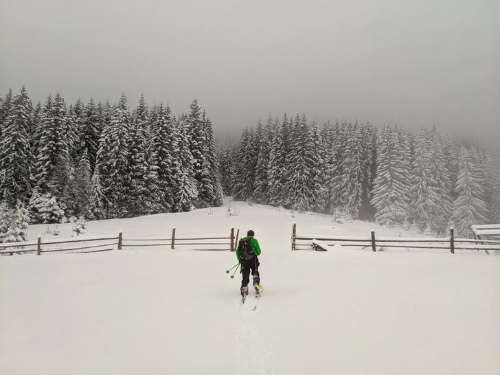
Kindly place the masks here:
<instances>
[{"instance_id":1,"label":"ski track in snow trailing behind the skier to the bottom edge","mask_svg":"<svg viewBox=\"0 0 500 375\"><path fill-rule=\"evenodd\" d=\"M262 329L259 309L256 308L261 298L249 295L245 304L238 298L235 374L277 375L273 353Z\"/></svg>"}]
</instances>

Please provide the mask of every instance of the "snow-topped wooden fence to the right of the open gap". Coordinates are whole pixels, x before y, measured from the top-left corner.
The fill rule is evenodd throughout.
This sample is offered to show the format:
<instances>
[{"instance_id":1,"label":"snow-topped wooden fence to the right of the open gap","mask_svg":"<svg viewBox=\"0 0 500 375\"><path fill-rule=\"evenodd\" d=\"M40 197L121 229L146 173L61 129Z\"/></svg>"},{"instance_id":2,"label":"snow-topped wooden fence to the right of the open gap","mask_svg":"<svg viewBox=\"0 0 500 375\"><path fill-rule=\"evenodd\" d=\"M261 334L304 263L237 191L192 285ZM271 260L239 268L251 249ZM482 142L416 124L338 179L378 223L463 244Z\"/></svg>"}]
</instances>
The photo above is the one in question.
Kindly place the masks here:
<instances>
[{"instance_id":1,"label":"snow-topped wooden fence to the right of the open gap","mask_svg":"<svg viewBox=\"0 0 500 375\"><path fill-rule=\"evenodd\" d=\"M333 242L333 243L332 243ZM400 249L435 249L448 250L455 253L455 250L478 250L500 251L500 240L475 240L468 238L455 238L455 231L450 229L450 236L445 238L376 238L372 229L370 237L341 237L325 235L297 235L297 225L292 225L292 250L315 249L326 251L328 247L341 245L343 247L361 247L380 251L380 248L400 248ZM378 248L378 250L377 250Z\"/></svg>"}]
</instances>

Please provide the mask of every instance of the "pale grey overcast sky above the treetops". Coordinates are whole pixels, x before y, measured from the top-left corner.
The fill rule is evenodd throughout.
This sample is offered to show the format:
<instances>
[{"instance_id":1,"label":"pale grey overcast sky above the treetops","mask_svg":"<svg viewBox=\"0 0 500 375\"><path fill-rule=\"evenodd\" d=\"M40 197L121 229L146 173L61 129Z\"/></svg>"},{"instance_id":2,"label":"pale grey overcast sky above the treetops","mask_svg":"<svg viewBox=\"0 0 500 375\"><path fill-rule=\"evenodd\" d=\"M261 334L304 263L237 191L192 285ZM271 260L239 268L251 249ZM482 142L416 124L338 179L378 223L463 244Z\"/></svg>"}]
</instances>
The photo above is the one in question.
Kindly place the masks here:
<instances>
[{"instance_id":1,"label":"pale grey overcast sky above the treetops","mask_svg":"<svg viewBox=\"0 0 500 375\"><path fill-rule=\"evenodd\" d=\"M500 144L499 0L0 0L0 93L197 98L214 130L306 113ZM234 130L233 130L234 131Z\"/></svg>"}]
</instances>

